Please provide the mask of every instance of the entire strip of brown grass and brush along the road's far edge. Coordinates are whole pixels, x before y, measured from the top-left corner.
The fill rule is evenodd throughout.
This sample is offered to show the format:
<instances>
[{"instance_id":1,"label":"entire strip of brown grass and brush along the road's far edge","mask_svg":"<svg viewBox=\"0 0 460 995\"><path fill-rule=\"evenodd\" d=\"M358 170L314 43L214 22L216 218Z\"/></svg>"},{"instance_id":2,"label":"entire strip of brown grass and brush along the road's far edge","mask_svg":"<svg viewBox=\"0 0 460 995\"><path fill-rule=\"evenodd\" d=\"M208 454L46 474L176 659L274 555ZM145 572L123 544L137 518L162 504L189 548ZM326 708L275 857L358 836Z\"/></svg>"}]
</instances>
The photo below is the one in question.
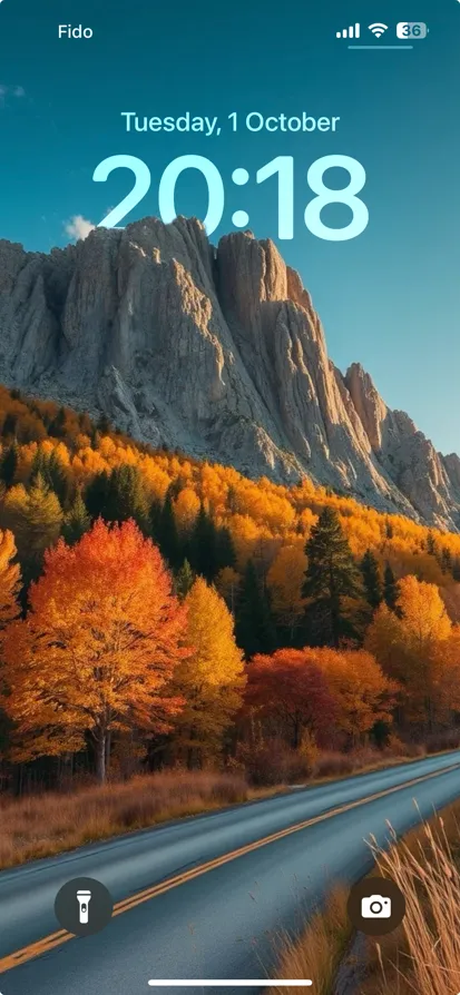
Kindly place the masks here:
<instances>
[{"instance_id":1,"label":"entire strip of brown grass and brush along the road's far edge","mask_svg":"<svg viewBox=\"0 0 460 995\"><path fill-rule=\"evenodd\" d=\"M290 790L288 776L309 785L419 759L390 750L355 750L346 756L325 751L300 768L298 758L282 750L272 758L265 778L249 779L243 770L165 770L114 778L99 785L71 779L58 791L28 792L21 798L0 795L0 870L40 857L50 857L89 843L145 829L168 819L264 798ZM274 771L274 774L273 774ZM262 784L264 781L264 784ZM268 782L268 784L267 784Z\"/></svg>"}]
</instances>

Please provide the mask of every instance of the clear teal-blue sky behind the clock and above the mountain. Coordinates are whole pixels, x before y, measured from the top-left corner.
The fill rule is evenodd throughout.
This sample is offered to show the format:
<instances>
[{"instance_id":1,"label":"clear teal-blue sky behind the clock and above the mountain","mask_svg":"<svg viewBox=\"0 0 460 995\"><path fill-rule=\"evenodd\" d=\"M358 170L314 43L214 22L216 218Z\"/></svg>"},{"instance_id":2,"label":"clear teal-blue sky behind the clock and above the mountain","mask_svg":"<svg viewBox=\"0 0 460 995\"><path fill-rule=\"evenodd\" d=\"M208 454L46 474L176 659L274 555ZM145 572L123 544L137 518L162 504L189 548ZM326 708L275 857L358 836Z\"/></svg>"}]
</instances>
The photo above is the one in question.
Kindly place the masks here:
<instances>
[{"instance_id":1,"label":"clear teal-blue sky behind the clock and above the mountain","mask_svg":"<svg viewBox=\"0 0 460 995\"><path fill-rule=\"evenodd\" d=\"M349 51L336 30L360 21L379 48L395 23L424 20L429 37L408 51ZM380 41L368 24L389 26ZM58 39L82 23L90 40ZM460 3L267 0L159 4L146 0L3 0L0 6L0 236L28 249L69 240L71 218L97 224L133 185L126 170L94 183L108 156L147 162L151 187L127 217L158 213L159 178L174 158L197 154L219 169L222 224L244 209L257 237L277 231L276 180L255 183L276 156L294 157L294 238L278 243L313 295L334 362L360 361L392 407L409 412L443 452L460 451ZM127 134L121 111L147 117L217 116L221 136ZM232 134L228 115L339 116L335 134ZM310 165L351 156L365 168L370 221L349 242L305 227ZM244 167L249 181L232 183ZM343 186L345 174L329 174ZM346 178L345 178L346 183ZM203 179L188 170L176 208L204 216ZM344 225L343 207L323 220Z\"/></svg>"}]
</instances>

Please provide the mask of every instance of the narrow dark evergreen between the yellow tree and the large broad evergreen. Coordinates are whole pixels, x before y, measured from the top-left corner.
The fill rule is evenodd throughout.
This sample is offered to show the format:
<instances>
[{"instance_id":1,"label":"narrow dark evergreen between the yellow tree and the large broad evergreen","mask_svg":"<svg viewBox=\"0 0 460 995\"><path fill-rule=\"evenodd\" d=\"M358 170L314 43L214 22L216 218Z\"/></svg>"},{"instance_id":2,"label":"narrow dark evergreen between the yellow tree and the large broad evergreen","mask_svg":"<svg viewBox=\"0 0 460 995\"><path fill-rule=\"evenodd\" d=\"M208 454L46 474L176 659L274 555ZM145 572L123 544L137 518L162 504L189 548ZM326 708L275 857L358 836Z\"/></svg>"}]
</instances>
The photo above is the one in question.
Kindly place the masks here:
<instances>
[{"instance_id":1,"label":"narrow dark evergreen between the yellow tree and the large broad evergreen","mask_svg":"<svg viewBox=\"0 0 460 995\"><path fill-rule=\"evenodd\" d=\"M272 653L276 649L276 633L270 603L252 560L239 585L236 609L236 641L247 658L255 653Z\"/></svg>"}]
</instances>

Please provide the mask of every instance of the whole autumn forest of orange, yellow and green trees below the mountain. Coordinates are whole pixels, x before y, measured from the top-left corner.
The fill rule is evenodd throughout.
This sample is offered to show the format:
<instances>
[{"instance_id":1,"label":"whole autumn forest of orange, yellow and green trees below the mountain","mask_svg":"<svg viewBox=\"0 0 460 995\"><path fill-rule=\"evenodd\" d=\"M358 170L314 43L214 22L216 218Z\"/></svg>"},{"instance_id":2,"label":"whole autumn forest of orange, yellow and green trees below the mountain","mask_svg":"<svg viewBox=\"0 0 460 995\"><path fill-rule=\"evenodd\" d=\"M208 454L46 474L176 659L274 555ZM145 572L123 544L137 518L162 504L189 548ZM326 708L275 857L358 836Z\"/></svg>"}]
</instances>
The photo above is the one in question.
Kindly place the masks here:
<instances>
[{"instance_id":1,"label":"whole autumn forest of orange, yellow and green trees below the mountain","mask_svg":"<svg viewBox=\"0 0 460 995\"><path fill-rule=\"evenodd\" d=\"M460 739L460 535L18 391L0 436L3 791Z\"/></svg>"}]
</instances>

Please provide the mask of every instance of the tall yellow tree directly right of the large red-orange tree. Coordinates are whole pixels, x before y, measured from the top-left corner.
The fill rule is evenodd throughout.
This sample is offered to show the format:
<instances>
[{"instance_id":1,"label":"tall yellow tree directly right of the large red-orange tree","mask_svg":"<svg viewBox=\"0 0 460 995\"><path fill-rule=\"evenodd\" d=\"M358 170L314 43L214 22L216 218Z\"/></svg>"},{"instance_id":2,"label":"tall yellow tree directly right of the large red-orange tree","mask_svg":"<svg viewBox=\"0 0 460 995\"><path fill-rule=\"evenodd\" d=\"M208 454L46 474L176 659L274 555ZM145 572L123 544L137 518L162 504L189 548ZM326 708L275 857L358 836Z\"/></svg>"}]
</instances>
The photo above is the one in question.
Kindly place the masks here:
<instances>
[{"instance_id":1,"label":"tall yellow tree directly right of the large red-orange tree","mask_svg":"<svg viewBox=\"0 0 460 995\"><path fill-rule=\"evenodd\" d=\"M245 676L233 618L217 591L198 577L185 607L190 656L173 680L173 692L186 702L175 720L174 749L194 767L221 752L242 702Z\"/></svg>"}]
</instances>

